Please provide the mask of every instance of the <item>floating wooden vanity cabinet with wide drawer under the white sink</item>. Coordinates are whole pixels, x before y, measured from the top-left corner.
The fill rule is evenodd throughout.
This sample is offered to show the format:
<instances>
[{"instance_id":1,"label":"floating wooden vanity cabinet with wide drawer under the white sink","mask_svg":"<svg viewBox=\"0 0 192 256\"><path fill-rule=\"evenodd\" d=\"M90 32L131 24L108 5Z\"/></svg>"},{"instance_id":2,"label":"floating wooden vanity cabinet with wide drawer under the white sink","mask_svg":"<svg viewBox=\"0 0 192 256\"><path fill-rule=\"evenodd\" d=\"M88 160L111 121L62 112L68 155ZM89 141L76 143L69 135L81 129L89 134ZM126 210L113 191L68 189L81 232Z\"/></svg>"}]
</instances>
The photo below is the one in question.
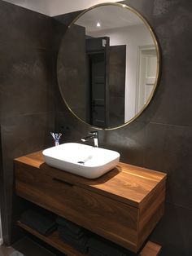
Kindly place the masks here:
<instances>
[{"instance_id":1,"label":"floating wooden vanity cabinet with wide drawer under the white sink","mask_svg":"<svg viewBox=\"0 0 192 256\"><path fill-rule=\"evenodd\" d=\"M165 180L166 174L124 163L93 180L47 166L41 152L15 159L18 196L135 253L164 214ZM80 255L62 250L55 235L45 239Z\"/></svg>"}]
</instances>

